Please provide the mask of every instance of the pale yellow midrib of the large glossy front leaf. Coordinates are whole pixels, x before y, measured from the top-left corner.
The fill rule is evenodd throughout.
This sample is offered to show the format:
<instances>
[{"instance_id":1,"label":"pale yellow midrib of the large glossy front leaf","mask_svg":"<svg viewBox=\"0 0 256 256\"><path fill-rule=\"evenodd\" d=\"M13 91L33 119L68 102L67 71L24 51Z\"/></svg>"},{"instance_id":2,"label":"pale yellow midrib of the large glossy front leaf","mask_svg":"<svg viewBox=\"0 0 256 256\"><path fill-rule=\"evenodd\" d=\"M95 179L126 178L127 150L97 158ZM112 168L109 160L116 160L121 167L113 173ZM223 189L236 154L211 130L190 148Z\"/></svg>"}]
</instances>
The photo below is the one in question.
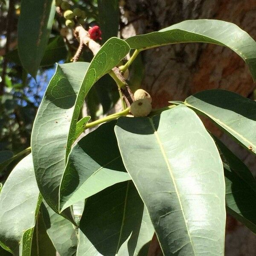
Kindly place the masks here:
<instances>
[{"instance_id":1,"label":"pale yellow midrib of the large glossy front leaf","mask_svg":"<svg viewBox=\"0 0 256 256\"><path fill-rule=\"evenodd\" d=\"M169 173L170 173L170 175L171 175L172 182L173 182L174 187L175 187L175 192L176 192L176 194L177 194L177 198L178 198L178 201L179 201L179 204L180 204L180 209L181 209L181 212L182 212L182 215L183 215L183 219L184 219L185 224L186 224L186 230L187 230L187 233L188 233L188 236L189 236L189 241L190 241L190 243L191 243L191 246L192 246L192 249L193 249L193 253L194 253L194 255L196 256L195 249L194 249L194 245L193 245L193 242L192 242L190 233L189 233L189 228L188 228L188 225L187 225L187 220L186 220L186 217L185 217L183 205L182 205L181 200L180 200L180 194L179 194L179 191L178 191L178 189L177 189L177 185L176 185L176 182L175 182L175 178L174 178L174 176L173 176L173 173L172 173L172 169L171 169L169 160L168 160L168 158L167 158L167 156L166 156L166 152L165 152L165 150L164 150L164 148L163 148L163 144L162 144L162 142L161 142L161 140L160 140L160 137L159 137L159 135L158 135L158 133L157 133L157 130L156 130L155 127L154 127L154 123L153 123L153 120L152 120L151 118L149 118L149 122L150 122L150 125L151 125L151 127L152 127L152 129L153 129L153 131L154 131L154 135L155 135L155 137L156 137L156 139L157 139L157 143L158 143L158 145L159 145L159 147L160 147L161 153L163 154L163 158L164 158L164 160L165 160L165 162L166 162L166 166L167 166L167 168L168 168L168 171L169 171Z\"/></svg>"}]
</instances>

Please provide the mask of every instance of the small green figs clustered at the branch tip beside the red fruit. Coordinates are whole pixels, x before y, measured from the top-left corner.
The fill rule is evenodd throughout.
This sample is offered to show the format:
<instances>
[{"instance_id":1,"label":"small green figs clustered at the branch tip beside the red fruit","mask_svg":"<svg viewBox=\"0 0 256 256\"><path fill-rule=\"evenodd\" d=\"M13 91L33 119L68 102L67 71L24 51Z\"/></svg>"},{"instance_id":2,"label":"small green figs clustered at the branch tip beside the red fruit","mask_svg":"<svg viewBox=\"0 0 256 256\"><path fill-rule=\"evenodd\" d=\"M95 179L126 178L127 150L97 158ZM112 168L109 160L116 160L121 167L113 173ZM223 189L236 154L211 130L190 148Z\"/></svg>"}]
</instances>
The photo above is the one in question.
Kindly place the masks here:
<instances>
[{"instance_id":1,"label":"small green figs clustered at the branch tip beside the red fruit","mask_svg":"<svg viewBox=\"0 0 256 256\"><path fill-rule=\"evenodd\" d=\"M79 8L75 8L70 10L71 6L67 1L63 0L55 0L55 5L59 6L61 10L64 11L64 18L66 19L65 24L69 28L73 28L75 26L75 20L83 25L85 23L84 19L86 18L86 13Z\"/></svg>"}]
</instances>

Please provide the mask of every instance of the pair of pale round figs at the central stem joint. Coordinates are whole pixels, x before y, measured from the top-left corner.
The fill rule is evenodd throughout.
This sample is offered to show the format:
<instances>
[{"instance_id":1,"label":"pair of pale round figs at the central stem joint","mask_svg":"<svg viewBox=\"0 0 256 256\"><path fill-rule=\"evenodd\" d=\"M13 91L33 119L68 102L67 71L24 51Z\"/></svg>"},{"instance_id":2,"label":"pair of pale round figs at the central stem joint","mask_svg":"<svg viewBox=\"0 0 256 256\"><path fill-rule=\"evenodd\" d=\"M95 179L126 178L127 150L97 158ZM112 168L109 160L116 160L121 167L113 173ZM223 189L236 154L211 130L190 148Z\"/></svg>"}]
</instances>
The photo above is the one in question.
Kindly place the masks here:
<instances>
[{"instance_id":1,"label":"pair of pale round figs at the central stem joint","mask_svg":"<svg viewBox=\"0 0 256 256\"><path fill-rule=\"evenodd\" d=\"M131 104L130 111L134 116L148 116L152 110L151 96L143 89L138 89L134 93L134 102Z\"/></svg>"}]
</instances>

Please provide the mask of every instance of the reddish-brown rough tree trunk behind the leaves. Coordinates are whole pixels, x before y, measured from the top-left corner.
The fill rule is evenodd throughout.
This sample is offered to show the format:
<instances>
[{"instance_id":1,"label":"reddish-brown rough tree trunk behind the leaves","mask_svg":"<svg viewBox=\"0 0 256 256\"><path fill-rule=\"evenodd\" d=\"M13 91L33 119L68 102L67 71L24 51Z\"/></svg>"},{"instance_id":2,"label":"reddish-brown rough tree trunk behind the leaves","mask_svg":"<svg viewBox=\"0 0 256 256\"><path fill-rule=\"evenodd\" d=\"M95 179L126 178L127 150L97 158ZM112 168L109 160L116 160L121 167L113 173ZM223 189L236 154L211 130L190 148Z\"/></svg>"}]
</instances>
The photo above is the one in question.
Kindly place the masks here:
<instances>
[{"instance_id":1,"label":"reddish-brown rough tree trunk behind the leaves","mask_svg":"<svg viewBox=\"0 0 256 256\"><path fill-rule=\"evenodd\" d=\"M126 0L121 4L122 20L128 23L122 26L124 38L157 31L188 19L233 22L256 38L255 0ZM225 47L175 44L144 51L142 58L145 67L142 87L151 94L153 108L166 106L170 100L184 100L201 90L220 88L248 97L255 88L244 61ZM255 157L209 121L204 122L255 174ZM256 255L256 236L230 216L227 218L225 255Z\"/></svg>"}]
</instances>

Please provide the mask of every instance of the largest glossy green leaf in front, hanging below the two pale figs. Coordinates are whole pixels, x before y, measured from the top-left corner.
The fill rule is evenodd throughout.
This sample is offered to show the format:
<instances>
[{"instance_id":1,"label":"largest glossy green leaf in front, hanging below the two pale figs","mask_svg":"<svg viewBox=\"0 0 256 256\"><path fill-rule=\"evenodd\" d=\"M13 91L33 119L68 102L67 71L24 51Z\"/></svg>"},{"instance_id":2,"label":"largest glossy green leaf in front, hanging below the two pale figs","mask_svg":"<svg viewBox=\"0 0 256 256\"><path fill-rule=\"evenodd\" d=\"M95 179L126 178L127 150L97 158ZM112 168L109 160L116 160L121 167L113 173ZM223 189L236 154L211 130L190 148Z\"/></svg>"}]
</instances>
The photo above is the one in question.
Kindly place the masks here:
<instances>
[{"instance_id":1,"label":"largest glossy green leaf in front, hanging below the two pale figs","mask_svg":"<svg viewBox=\"0 0 256 256\"><path fill-rule=\"evenodd\" d=\"M164 255L224 255L223 166L198 116L178 106L154 117L120 117L115 131Z\"/></svg>"}]
</instances>

